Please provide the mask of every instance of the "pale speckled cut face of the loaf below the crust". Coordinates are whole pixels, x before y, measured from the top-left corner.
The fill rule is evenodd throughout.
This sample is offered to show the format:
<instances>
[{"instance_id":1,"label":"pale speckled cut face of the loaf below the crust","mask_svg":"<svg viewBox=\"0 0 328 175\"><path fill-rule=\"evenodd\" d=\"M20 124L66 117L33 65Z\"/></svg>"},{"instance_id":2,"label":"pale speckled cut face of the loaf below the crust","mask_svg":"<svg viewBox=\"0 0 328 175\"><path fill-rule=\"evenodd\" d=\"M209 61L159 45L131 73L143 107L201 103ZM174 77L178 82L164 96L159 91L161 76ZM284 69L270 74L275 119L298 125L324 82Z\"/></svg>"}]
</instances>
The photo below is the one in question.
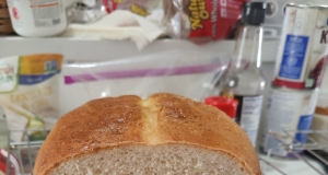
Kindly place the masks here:
<instances>
[{"instance_id":1,"label":"pale speckled cut face of the loaf below the crust","mask_svg":"<svg viewBox=\"0 0 328 175\"><path fill-rule=\"evenodd\" d=\"M223 151L195 145L134 145L81 155L54 168L50 175L101 174L224 174L249 172Z\"/></svg>"}]
</instances>

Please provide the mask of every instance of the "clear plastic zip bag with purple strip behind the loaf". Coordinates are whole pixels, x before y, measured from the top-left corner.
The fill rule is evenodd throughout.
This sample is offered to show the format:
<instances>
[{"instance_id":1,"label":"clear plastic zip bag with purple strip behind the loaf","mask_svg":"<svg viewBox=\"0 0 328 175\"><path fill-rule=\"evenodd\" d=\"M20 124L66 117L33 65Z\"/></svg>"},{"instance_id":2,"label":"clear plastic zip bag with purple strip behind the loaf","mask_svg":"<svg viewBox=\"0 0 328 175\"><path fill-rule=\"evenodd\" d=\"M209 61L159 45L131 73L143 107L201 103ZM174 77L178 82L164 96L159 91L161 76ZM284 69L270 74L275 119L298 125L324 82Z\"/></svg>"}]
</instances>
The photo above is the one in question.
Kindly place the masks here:
<instances>
[{"instance_id":1,"label":"clear plastic zip bag with purple strip behind the loaf","mask_svg":"<svg viewBox=\"0 0 328 175\"><path fill-rule=\"evenodd\" d=\"M87 101L133 94L147 98L160 92L202 101L226 68L224 54L168 51L134 58L63 66L61 113Z\"/></svg>"}]
</instances>

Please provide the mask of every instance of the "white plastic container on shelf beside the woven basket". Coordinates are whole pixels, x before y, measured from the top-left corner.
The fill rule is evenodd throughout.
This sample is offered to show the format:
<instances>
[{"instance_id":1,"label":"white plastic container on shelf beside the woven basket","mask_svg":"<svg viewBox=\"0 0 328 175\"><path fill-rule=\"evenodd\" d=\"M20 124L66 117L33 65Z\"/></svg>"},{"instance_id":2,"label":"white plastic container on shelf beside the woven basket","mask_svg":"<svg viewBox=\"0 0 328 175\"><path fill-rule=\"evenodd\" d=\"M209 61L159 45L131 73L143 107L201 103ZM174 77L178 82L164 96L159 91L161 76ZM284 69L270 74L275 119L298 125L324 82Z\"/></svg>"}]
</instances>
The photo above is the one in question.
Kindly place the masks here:
<instances>
[{"instance_id":1,"label":"white plastic container on shelf beside the woven basket","mask_svg":"<svg viewBox=\"0 0 328 175\"><path fill-rule=\"evenodd\" d=\"M14 31L26 37L54 36L67 27L61 0L7 0Z\"/></svg>"}]
</instances>

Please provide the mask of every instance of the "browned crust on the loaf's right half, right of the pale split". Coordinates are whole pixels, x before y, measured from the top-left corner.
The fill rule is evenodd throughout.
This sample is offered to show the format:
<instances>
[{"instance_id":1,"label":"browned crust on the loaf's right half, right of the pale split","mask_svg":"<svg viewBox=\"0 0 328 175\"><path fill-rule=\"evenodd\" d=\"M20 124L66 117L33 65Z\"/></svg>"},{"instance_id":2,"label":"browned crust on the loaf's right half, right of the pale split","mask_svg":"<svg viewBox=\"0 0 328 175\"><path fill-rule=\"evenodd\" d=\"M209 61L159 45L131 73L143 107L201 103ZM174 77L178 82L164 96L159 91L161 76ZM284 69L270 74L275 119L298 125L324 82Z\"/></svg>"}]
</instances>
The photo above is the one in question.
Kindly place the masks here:
<instances>
[{"instance_id":1,"label":"browned crust on the loaf's right half, right of the pale split","mask_svg":"<svg viewBox=\"0 0 328 175\"><path fill-rule=\"evenodd\" d=\"M258 158L250 140L224 113L171 94L155 94L149 101L152 108L160 112L159 129L161 133L165 133L167 141L190 142L225 151L245 164L251 174L260 174Z\"/></svg>"}]
</instances>

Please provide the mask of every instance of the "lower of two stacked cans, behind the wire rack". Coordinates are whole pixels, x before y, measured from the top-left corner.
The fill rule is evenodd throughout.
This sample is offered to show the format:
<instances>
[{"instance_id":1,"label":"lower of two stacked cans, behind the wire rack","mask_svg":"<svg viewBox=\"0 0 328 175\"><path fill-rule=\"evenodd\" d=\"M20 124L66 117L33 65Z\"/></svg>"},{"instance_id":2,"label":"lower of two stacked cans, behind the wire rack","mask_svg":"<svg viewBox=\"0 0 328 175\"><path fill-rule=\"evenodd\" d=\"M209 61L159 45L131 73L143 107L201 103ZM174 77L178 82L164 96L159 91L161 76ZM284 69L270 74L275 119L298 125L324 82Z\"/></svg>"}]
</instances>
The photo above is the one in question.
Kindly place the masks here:
<instances>
[{"instance_id":1,"label":"lower of two stacked cans, behind the wire rack","mask_svg":"<svg viewBox=\"0 0 328 175\"><path fill-rule=\"evenodd\" d=\"M276 156L293 158L281 144L306 142L307 136L296 131L311 129L318 94L318 89L297 91L271 86L260 132L260 148L265 153L270 151ZM274 132L274 137L267 135L269 130ZM294 132L288 136L283 132L286 130Z\"/></svg>"}]
</instances>

